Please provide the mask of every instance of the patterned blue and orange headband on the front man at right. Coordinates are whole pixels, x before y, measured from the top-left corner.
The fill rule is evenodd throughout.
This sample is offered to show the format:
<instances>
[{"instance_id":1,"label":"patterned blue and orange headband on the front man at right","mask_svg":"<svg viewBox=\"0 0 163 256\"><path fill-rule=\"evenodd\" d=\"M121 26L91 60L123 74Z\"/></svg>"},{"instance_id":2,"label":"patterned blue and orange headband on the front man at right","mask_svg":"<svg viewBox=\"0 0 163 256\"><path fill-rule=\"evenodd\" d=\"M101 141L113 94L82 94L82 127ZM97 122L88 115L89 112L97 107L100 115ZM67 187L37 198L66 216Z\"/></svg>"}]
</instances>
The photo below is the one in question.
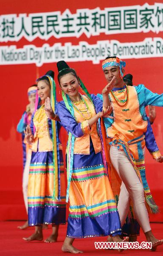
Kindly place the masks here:
<instances>
[{"instance_id":1,"label":"patterned blue and orange headband on the front man at right","mask_svg":"<svg viewBox=\"0 0 163 256\"><path fill-rule=\"evenodd\" d=\"M124 74L122 73L122 68L126 66L126 62L122 61L120 58L113 56L105 59L102 62L102 69L104 70L106 67L119 67L121 78L123 78Z\"/></svg>"}]
</instances>

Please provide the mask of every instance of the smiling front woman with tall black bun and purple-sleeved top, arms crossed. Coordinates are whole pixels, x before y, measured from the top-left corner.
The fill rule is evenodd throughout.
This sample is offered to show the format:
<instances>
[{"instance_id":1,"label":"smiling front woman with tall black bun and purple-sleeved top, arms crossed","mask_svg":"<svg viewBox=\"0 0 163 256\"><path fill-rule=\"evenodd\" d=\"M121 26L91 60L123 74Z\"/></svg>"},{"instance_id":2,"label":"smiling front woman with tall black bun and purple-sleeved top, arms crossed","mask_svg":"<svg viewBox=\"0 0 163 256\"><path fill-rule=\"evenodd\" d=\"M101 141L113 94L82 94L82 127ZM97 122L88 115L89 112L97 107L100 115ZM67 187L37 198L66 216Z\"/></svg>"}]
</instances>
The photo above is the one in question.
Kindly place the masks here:
<instances>
[{"instance_id":1,"label":"smiling front woman with tall black bun and purple-sleeved top, arms crossed","mask_svg":"<svg viewBox=\"0 0 163 256\"><path fill-rule=\"evenodd\" d=\"M75 238L111 235L113 241L122 241L118 236L121 234L121 224L104 154L101 154L104 151L97 127L98 119L108 115L112 108L104 112L102 101L88 93L75 70L65 61L59 61L57 67L64 100L58 103L57 113L69 133L66 201L69 199L70 208L62 251L82 253L73 247ZM80 88L86 95L79 93ZM45 105L51 114L53 111L49 99Z\"/></svg>"}]
</instances>

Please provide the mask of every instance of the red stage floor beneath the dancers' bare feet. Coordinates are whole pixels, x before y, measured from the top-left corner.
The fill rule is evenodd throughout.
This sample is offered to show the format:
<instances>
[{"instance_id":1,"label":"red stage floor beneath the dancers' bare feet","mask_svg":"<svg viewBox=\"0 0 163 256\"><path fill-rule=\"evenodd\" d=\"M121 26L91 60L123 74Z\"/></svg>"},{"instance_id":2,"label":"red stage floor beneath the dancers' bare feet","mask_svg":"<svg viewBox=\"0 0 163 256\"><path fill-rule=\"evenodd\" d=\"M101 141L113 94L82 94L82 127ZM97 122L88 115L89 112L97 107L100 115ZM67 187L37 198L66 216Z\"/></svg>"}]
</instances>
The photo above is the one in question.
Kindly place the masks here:
<instances>
[{"instance_id":1,"label":"red stage floor beneath the dancers' bare feet","mask_svg":"<svg viewBox=\"0 0 163 256\"><path fill-rule=\"evenodd\" d=\"M61 246L65 238L66 227L61 225L59 228L59 238L57 243L48 244L44 241L26 242L22 237L28 237L34 232L34 228L30 227L27 230L18 230L17 226L21 225L22 221L0 221L0 256L55 256L64 255ZM151 224L153 233L158 239L163 238L163 224ZM44 239L51 234L51 227L48 230L43 230ZM119 254L116 250L96 250L94 246L95 241L106 241L106 237L76 239L74 246L80 250L84 250L82 255L115 255ZM145 241L145 236L141 233L138 241ZM149 250L125 250L121 254L141 256L153 255L154 252ZM67 253L66 253L67 254ZM65 254L65 255L66 255ZM70 254L69 254L70 255ZM163 255L163 245L157 247L157 256Z\"/></svg>"}]
</instances>

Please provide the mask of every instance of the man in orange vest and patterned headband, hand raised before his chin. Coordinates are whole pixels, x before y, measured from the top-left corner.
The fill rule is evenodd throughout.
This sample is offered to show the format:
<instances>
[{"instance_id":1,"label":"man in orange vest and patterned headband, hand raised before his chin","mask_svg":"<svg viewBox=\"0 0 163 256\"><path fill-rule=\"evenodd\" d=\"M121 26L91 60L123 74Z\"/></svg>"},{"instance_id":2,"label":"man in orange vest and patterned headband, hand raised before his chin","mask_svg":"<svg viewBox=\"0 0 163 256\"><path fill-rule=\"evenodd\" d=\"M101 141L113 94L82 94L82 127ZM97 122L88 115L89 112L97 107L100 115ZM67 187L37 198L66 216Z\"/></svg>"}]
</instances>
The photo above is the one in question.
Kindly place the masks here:
<instances>
[{"instance_id":1,"label":"man in orange vest and patterned headband, hand raised before his chin","mask_svg":"<svg viewBox=\"0 0 163 256\"><path fill-rule=\"evenodd\" d=\"M108 138L108 153L116 174L122 180L118 198L118 212L123 226L129 209L129 199L133 204L135 217L145 233L147 241L152 242L152 250L163 243L152 234L146 203L152 212L158 207L152 198L145 175L143 148L144 132L147 128L145 107L163 106L163 94L152 93L143 84L127 86L123 81L126 63L116 56L107 57L102 68L107 81L115 78L115 84L105 87L104 106L112 105L111 116L104 118ZM144 199L145 195L145 199Z\"/></svg>"}]
</instances>

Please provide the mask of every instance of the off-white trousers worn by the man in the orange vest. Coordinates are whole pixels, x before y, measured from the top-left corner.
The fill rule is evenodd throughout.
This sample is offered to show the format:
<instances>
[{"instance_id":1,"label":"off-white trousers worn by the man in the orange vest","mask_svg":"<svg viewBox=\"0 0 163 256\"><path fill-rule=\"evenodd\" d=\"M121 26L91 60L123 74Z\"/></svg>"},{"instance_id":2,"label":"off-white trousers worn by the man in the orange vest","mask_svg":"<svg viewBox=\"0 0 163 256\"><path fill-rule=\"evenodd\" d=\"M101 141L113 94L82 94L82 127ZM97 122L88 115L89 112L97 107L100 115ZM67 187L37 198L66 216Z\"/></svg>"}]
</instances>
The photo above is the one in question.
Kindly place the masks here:
<instances>
[{"instance_id":1,"label":"off-white trousers worn by the man in the orange vest","mask_svg":"<svg viewBox=\"0 0 163 256\"><path fill-rule=\"evenodd\" d=\"M149 216L145 205L144 190L135 169L124 151L117 147L110 147L110 159L116 172L122 180L118 199L118 212L123 226L129 212L129 199L131 198L135 217L144 233L151 230Z\"/></svg>"}]
</instances>

